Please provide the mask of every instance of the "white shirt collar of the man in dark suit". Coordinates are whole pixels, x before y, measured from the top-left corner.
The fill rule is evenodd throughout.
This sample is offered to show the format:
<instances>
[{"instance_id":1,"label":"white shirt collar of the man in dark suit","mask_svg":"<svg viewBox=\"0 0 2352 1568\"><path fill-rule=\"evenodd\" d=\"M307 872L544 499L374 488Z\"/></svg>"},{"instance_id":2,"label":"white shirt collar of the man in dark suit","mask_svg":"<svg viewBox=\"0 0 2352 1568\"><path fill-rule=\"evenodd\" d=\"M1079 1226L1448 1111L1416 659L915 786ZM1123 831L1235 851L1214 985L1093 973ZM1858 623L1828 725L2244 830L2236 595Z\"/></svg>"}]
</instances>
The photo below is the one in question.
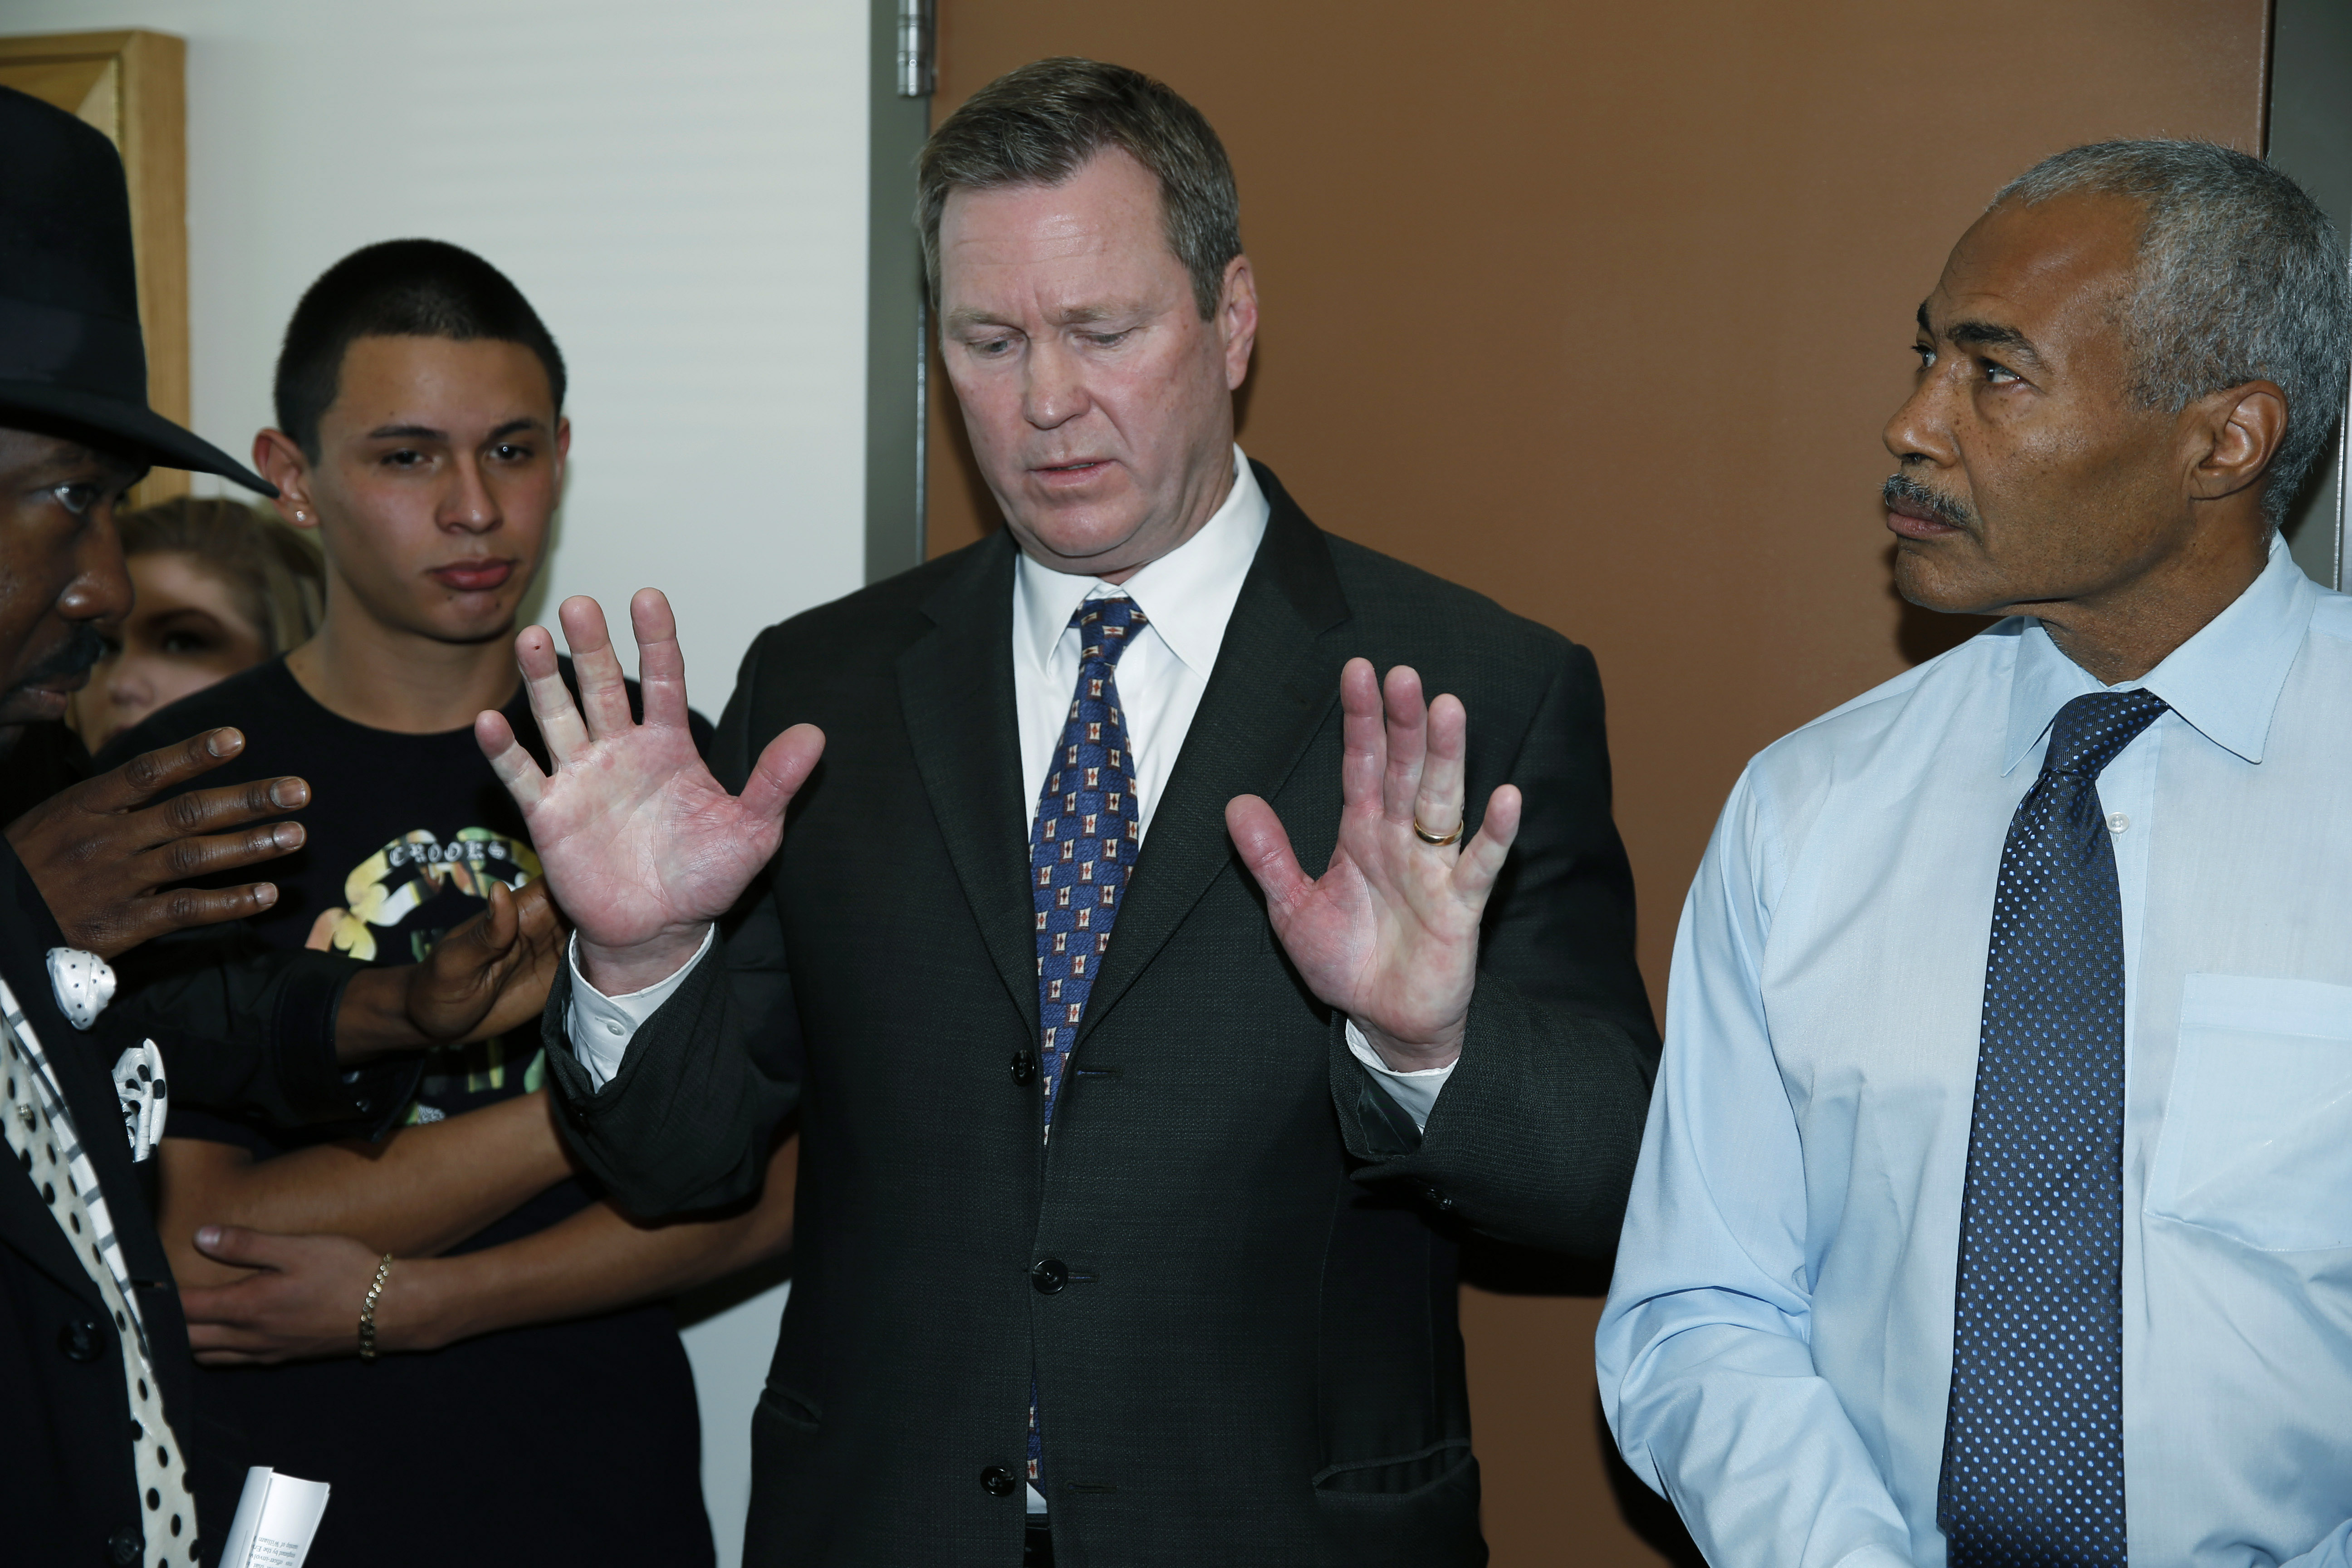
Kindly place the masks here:
<instances>
[{"instance_id":1,"label":"white shirt collar of the man in dark suit","mask_svg":"<svg viewBox=\"0 0 2352 1568\"><path fill-rule=\"evenodd\" d=\"M1018 625L1014 646L1040 670L1051 668L1054 644L1070 630L1070 616L1087 599L1127 595L1160 632L1160 642L1197 677L1209 679L1216 651L1225 642L1225 623L1242 597L1242 578L1265 538L1268 503L1258 475L1249 470L1242 449L1232 449L1232 489L1200 531L1150 562L1124 583L1077 576L1040 567L1021 555L1014 569L1014 607Z\"/></svg>"}]
</instances>

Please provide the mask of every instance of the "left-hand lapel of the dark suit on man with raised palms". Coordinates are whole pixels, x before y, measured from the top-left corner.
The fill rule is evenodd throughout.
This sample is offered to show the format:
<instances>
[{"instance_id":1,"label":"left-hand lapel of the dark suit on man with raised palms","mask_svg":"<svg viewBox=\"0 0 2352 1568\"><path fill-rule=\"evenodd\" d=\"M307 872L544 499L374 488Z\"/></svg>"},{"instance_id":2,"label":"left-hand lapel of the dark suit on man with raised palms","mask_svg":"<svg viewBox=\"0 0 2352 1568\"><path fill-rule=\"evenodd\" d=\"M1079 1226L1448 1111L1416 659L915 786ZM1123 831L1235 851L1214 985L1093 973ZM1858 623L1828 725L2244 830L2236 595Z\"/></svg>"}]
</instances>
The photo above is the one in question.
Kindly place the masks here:
<instances>
[{"instance_id":1,"label":"left-hand lapel of the dark suit on man with raised palms","mask_svg":"<svg viewBox=\"0 0 2352 1568\"><path fill-rule=\"evenodd\" d=\"M948 860L981 922L988 957L1028 1018L1037 1016L1035 907L1021 820L1021 726L1014 717L1014 545L1002 531L924 604L931 632L898 656L898 703L915 771Z\"/></svg>"}]
</instances>

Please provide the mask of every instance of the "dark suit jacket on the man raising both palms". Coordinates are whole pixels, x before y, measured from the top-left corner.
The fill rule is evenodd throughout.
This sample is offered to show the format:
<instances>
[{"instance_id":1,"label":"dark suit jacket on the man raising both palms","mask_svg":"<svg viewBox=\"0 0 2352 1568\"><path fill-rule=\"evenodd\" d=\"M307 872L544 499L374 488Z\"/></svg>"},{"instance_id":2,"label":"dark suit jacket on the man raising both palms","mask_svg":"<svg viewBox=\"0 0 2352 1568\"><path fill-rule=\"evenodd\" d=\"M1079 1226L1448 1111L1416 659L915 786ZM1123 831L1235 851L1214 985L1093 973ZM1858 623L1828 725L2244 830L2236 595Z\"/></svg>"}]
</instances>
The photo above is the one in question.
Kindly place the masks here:
<instances>
[{"instance_id":1,"label":"dark suit jacket on the man raising both palms","mask_svg":"<svg viewBox=\"0 0 2352 1568\"><path fill-rule=\"evenodd\" d=\"M720 719L739 788L783 726L826 759L783 849L569 1138L644 1213L757 1182L802 1133L795 1286L753 1422L753 1563L1021 1556L1030 1375L1056 1561L1479 1563L1454 1225L1604 1255L1656 1037L1609 820L1592 658L1317 531L1265 541L1169 778L1040 1147L1035 938L995 536L771 628ZM1338 835L1338 672L1470 710L1470 799L1526 820L1468 1046L1414 1131L1268 926L1225 802L1301 863ZM1068 1284L1042 1291L1033 1265ZM1047 1269L1051 1284L1051 1269ZM1002 1495L1000 1495L1002 1493Z\"/></svg>"}]
</instances>

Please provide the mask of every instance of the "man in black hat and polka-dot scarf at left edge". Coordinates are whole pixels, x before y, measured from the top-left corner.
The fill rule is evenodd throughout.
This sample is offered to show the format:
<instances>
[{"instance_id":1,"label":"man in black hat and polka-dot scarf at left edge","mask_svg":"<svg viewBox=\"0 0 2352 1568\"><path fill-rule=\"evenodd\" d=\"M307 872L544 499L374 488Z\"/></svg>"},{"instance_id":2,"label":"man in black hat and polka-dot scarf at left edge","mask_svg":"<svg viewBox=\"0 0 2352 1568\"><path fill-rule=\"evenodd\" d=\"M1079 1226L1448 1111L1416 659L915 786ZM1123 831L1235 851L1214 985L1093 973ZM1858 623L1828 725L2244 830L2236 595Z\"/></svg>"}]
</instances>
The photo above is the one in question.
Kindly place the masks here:
<instances>
[{"instance_id":1,"label":"man in black hat and polka-dot scarf at left edge","mask_svg":"<svg viewBox=\"0 0 2352 1568\"><path fill-rule=\"evenodd\" d=\"M113 148L73 115L0 89L0 745L64 712L96 658L94 625L129 609L113 510L151 465L268 494L146 407L129 200ZM139 1171L162 1133L165 1067L174 1088L212 1103L280 1119L365 1117L372 1098L390 1103L376 1081L388 1070L346 1077L348 1058L412 1044L393 1025L336 1030L350 976L320 966L280 966L259 990L254 976L223 983L221 1018L247 1027L216 1032L235 1046L151 1039L103 1018L108 957L275 900L270 884L167 884L296 849L299 825L252 823L303 806L303 780L146 806L242 745L238 731L214 729L148 752L16 818L0 849L0 1131L24 1173L0 1173L7 1561L200 1561L186 1324ZM473 1006L459 1030L487 1009L480 980L496 994L529 947L515 903L503 910L477 940L445 943L452 961L435 978L449 990L473 980L482 1004L459 1006ZM416 1025L419 1011L405 1013Z\"/></svg>"}]
</instances>

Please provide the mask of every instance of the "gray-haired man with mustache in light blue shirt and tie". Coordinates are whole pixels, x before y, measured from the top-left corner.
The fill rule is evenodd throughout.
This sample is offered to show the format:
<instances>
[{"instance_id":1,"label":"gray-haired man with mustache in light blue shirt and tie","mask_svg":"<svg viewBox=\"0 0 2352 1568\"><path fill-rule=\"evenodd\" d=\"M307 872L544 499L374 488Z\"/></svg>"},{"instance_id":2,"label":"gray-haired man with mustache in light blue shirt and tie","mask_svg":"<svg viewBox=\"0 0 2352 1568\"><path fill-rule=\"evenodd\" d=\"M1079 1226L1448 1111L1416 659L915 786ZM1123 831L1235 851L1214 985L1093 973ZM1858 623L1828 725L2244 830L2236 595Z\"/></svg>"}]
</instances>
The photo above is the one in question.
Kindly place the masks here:
<instances>
[{"instance_id":1,"label":"gray-haired man with mustache in light blue shirt and tie","mask_svg":"<svg viewBox=\"0 0 2352 1568\"><path fill-rule=\"evenodd\" d=\"M1599 1328L1712 1563L2347 1561L2352 599L2277 538L2347 343L2199 143L2039 165L1919 308L1898 585L2011 618L1731 792Z\"/></svg>"}]
</instances>

